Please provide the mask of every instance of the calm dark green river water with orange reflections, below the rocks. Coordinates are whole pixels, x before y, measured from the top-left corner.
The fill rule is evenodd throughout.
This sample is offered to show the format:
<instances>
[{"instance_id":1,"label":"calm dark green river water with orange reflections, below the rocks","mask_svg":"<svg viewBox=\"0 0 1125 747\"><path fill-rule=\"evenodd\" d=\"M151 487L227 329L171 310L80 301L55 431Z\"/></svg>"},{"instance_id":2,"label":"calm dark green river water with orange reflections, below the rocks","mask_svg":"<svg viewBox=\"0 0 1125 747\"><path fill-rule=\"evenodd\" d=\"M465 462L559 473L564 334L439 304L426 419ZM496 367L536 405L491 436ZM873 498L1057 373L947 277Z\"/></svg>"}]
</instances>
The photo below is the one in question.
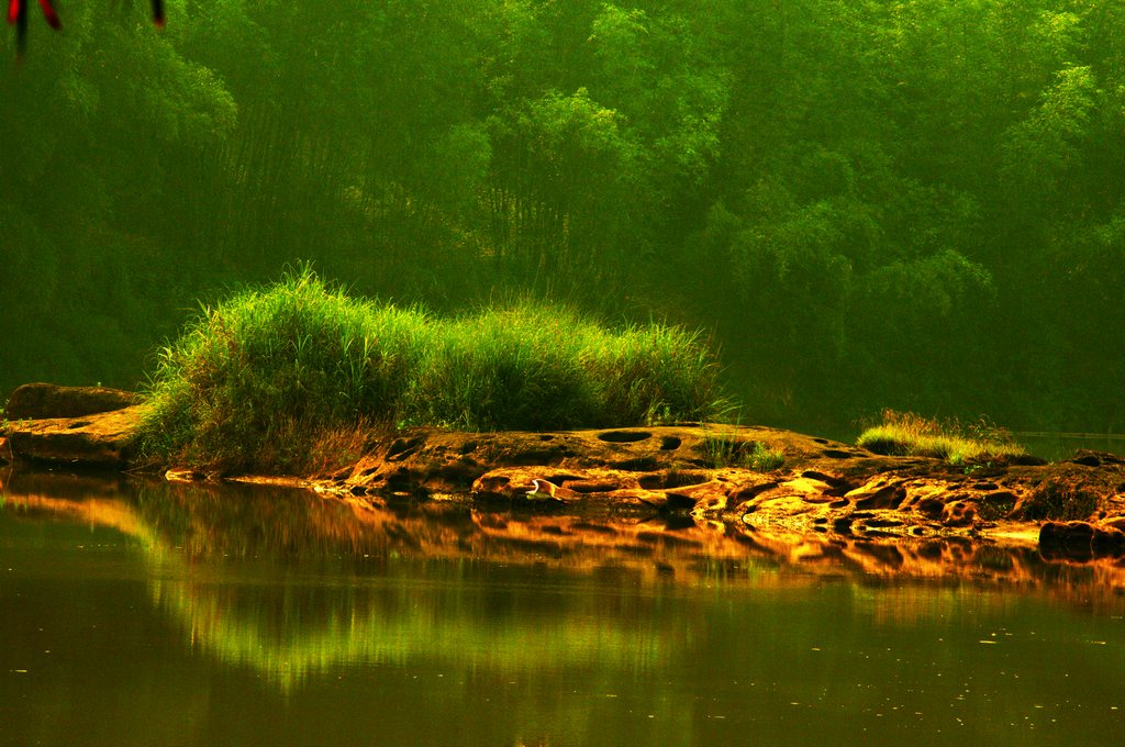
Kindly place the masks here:
<instances>
[{"instance_id":1,"label":"calm dark green river water with orange reflections, below the rocks","mask_svg":"<svg viewBox=\"0 0 1125 747\"><path fill-rule=\"evenodd\" d=\"M8 476L0 742L1120 745L1125 570Z\"/></svg>"}]
</instances>

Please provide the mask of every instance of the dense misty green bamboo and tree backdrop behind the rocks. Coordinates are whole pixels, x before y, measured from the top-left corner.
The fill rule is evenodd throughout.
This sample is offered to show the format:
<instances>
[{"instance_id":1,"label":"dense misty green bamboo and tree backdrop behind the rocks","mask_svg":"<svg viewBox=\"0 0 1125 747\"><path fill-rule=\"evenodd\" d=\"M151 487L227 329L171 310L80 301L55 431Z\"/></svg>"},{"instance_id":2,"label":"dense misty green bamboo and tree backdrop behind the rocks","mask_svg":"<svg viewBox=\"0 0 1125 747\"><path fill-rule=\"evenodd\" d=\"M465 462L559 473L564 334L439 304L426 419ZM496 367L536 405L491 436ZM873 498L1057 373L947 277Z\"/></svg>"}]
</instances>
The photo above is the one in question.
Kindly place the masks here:
<instances>
[{"instance_id":1,"label":"dense misty green bamboo and tree backdrop behind the rocks","mask_svg":"<svg viewBox=\"0 0 1125 747\"><path fill-rule=\"evenodd\" d=\"M0 40L0 384L310 260L714 331L744 421L1125 430L1120 0L68 2ZM197 309L198 310L198 309Z\"/></svg>"}]
</instances>

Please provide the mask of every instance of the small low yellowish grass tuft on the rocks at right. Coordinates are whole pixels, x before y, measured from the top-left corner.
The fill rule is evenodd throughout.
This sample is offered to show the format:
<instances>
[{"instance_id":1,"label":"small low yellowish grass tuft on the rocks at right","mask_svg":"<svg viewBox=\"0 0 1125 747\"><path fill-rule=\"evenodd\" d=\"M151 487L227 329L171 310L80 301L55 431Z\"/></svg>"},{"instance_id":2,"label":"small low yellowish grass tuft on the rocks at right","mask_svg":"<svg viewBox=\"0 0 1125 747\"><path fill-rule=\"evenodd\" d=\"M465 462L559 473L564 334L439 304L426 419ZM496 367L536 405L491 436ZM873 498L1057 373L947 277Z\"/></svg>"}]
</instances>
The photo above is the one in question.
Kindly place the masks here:
<instances>
[{"instance_id":1,"label":"small low yellowish grass tuft on the rocks at right","mask_svg":"<svg viewBox=\"0 0 1125 747\"><path fill-rule=\"evenodd\" d=\"M884 410L882 422L860 434L857 443L892 457L934 457L952 465L999 460L1027 454L1006 431L955 421L937 421L914 413Z\"/></svg>"}]
</instances>

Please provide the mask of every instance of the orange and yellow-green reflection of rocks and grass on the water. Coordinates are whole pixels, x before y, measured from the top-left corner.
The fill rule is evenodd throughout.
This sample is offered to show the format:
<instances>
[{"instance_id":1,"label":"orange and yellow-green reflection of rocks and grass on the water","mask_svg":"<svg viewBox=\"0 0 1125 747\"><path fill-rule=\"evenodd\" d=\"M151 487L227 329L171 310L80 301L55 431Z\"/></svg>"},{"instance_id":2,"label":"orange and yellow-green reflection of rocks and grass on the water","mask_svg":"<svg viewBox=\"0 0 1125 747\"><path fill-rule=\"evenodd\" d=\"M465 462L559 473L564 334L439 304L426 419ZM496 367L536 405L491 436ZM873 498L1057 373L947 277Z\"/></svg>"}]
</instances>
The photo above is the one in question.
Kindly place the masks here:
<instances>
[{"instance_id":1,"label":"orange and yellow-green reflection of rocks and grass on the water","mask_svg":"<svg viewBox=\"0 0 1125 747\"><path fill-rule=\"evenodd\" d=\"M135 497L111 497L123 490ZM472 627L482 613L464 609L460 584L505 578L521 584L521 574L537 574L544 564L575 579L630 588L716 583L806 588L821 578L855 575L863 583L894 579L903 587L910 586L906 582L947 587L950 580L960 580L1104 608L1119 608L1125 593L1119 560L1089 551L1041 555L1034 536L1006 546L936 530L922 539L883 536L875 530L892 531L885 522L893 520L879 511L853 510L852 534L809 533L656 511L648 518L592 518L497 510L496 503L469 507L438 501L344 502L264 487L162 482L99 486L89 478L62 477L19 479L7 501L21 520L50 513L140 540L138 551L159 572L154 603L220 659L253 666L282 686L341 662L447 652L452 657L454 649L465 647L480 651L482 665L502 660L506 668L530 672L606 647L619 650L622 662L646 650L676 655L672 649L651 650L644 631L606 628L597 605L612 603L613 594L565 595L566 606L552 608L548 616L513 612L505 618L501 639ZM1081 538L1079 547L1084 542L1089 549L1100 531L1122 534L1089 524L1063 524L1047 534L1062 532L1068 541ZM294 577L310 572L384 580L331 584L339 594L315 584L264 588L225 583L227 574L245 573L256 564L267 564L274 575L285 569L288 576L291 569ZM433 605L420 615L421 577L431 594L426 604ZM280 619L300 623L279 627L279 605L286 610ZM909 622L926 609L906 605L894 614ZM669 620L659 640L675 640L669 631L684 622Z\"/></svg>"}]
</instances>

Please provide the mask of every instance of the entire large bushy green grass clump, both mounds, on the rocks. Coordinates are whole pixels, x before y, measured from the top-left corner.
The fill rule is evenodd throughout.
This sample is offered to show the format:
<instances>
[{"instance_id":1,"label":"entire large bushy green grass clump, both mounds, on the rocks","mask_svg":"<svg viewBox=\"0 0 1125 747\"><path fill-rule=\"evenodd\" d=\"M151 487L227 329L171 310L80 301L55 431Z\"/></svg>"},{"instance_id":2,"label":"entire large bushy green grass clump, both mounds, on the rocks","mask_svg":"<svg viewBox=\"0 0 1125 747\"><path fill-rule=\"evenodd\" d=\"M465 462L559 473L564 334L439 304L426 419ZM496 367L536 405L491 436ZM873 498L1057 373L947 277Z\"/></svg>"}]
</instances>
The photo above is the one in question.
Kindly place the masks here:
<instances>
[{"instance_id":1,"label":"entire large bushy green grass clump, both mounds, on the rocks","mask_svg":"<svg viewBox=\"0 0 1125 747\"><path fill-rule=\"evenodd\" d=\"M443 318L306 268L204 307L160 351L142 443L155 461L307 470L358 456L372 429L698 421L722 400L717 377L676 327L609 330L532 303Z\"/></svg>"}]
</instances>

